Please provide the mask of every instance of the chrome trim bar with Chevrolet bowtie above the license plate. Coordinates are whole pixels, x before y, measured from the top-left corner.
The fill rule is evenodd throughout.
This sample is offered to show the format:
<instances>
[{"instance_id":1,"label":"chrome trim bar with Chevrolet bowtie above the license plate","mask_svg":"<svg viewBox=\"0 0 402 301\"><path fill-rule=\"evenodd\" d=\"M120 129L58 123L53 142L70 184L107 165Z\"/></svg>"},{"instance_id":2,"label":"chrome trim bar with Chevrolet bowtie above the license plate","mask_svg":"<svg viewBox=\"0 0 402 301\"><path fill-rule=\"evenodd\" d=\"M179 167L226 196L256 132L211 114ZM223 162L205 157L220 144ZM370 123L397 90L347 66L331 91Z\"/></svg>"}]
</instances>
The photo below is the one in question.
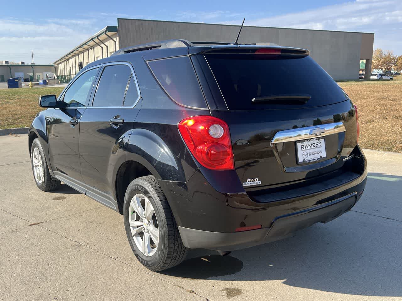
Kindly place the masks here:
<instances>
[{"instance_id":1,"label":"chrome trim bar with Chevrolet bowtie above the license plate","mask_svg":"<svg viewBox=\"0 0 402 301\"><path fill-rule=\"evenodd\" d=\"M272 138L271 146L275 143L319 138L341 132L345 132L345 125L343 122L320 124L304 128L292 128L291 130L277 132L274 138Z\"/></svg>"}]
</instances>

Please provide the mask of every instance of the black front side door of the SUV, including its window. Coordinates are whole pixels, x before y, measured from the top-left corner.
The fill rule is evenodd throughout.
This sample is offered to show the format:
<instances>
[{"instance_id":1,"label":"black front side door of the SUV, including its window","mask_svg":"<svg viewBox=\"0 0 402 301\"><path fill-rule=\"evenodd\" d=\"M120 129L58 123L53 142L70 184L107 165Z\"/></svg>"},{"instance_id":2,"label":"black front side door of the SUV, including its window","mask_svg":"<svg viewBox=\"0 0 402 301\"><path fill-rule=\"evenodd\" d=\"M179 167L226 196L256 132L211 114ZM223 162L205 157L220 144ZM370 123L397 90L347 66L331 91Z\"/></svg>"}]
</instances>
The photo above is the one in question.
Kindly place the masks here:
<instances>
[{"instance_id":1,"label":"black front side door of the SUV, including its window","mask_svg":"<svg viewBox=\"0 0 402 301\"><path fill-rule=\"evenodd\" d=\"M80 118L89 102L99 68L95 67L74 78L57 100L48 127L49 159L55 175L82 182L78 147Z\"/></svg>"}]
</instances>

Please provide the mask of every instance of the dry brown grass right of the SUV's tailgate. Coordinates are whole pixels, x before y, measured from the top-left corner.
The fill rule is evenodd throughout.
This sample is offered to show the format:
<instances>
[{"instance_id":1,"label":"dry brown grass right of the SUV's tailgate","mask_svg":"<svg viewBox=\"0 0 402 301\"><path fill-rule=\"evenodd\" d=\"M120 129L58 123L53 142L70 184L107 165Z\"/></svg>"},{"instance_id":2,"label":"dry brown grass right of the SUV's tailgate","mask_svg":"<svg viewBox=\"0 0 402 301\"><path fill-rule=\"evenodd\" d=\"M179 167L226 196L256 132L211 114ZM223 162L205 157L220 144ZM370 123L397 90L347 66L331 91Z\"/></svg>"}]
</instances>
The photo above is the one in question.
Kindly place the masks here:
<instances>
[{"instance_id":1,"label":"dry brown grass right of the SUV's tailgate","mask_svg":"<svg viewBox=\"0 0 402 301\"><path fill-rule=\"evenodd\" d=\"M359 144L363 148L402 153L402 76L394 81L339 83L357 105Z\"/></svg>"}]
</instances>

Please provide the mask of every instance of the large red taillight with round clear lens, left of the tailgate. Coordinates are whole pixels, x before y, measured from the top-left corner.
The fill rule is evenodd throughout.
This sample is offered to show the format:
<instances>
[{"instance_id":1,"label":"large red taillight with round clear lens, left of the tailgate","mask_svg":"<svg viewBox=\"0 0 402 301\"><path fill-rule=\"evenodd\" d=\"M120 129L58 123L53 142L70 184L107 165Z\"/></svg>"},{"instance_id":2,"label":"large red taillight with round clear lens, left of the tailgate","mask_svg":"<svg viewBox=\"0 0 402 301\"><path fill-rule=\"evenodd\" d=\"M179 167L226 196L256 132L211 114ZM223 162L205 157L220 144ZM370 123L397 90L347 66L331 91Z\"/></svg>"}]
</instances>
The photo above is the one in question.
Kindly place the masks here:
<instances>
[{"instance_id":1,"label":"large red taillight with round clear lens, left of the tailgate","mask_svg":"<svg viewBox=\"0 0 402 301\"><path fill-rule=\"evenodd\" d=\"M197 161L215 170L234 169L229 127L212 116L194 116L178 123L178 130Z\"/></svg>"}]
</instances>

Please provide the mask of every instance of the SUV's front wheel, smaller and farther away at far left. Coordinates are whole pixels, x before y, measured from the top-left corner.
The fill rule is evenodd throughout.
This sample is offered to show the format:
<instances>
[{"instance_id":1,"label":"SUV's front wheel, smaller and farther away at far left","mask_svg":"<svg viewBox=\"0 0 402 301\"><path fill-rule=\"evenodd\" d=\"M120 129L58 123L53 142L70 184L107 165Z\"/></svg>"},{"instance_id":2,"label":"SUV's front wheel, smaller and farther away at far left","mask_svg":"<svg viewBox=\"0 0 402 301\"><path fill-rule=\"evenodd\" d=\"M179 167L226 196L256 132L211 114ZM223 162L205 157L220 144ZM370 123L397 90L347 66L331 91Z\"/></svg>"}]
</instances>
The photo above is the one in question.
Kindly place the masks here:
<instances>
[{"instance_id":1,"label":"SUV's front wheel, smaller and farther away at far left","mask_svg":"<svg viewBox=\"0 0 402 301\"><path fill-rule=\"evenodd\" d=\"M45 152L39 138L36 138L32 142L31 146L31 166L33 172L33 178L39 189L42 191L55 190L60 186L59 180L54 180L49 172L47 166Z\"/></svg>"}]
</instances>

